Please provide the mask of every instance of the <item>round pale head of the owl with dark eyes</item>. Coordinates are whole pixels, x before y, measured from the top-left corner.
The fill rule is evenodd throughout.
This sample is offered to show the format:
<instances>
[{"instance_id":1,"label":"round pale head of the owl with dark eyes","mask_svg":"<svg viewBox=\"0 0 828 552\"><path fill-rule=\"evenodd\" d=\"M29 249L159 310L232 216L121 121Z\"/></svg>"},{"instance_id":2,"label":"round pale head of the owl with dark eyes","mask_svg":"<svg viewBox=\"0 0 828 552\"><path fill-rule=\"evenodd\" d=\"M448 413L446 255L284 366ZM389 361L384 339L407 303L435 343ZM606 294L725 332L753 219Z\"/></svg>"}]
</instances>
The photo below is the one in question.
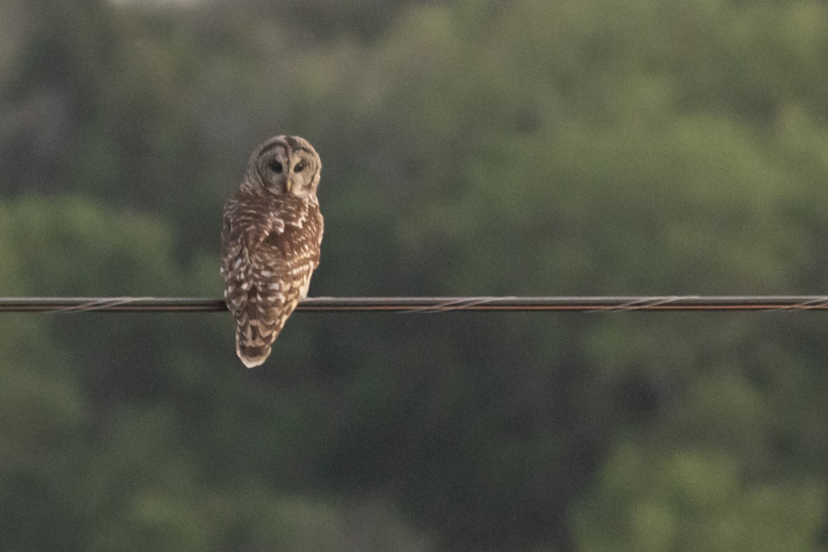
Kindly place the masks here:
<instances>
[{"instance_id":1,"label":"round pale head of the owl with dark eyes","mask_svg":"<svg viewBox=\"0 0 828 552\"><path fill-rule=\"evenodd\" d=\"M276 195L316 197L322 161L305 138L277 136L258 146L250 156L242 188L263 188Z\"/></svg>"}]
</instances>

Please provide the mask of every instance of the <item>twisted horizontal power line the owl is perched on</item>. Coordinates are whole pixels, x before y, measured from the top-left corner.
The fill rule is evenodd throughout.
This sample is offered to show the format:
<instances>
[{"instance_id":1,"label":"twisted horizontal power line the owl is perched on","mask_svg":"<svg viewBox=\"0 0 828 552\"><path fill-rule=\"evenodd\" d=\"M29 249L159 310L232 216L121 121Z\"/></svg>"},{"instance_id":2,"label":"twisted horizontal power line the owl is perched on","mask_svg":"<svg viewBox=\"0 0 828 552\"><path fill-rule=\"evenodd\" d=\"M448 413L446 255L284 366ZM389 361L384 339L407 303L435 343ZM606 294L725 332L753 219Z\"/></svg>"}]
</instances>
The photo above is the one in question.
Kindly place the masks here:
<instances>
[{"instance_id":1,"label":"twisted horizontal power line the owl is perched on","mask_svg":"<svg viewBox=\"0 0 828 552\"><path fill-rule=\"evenodd\" d=\"M199 297L0 297L0 312L218 312ZM308 297L297 310L828 310L828 295L663 295L625 297Z\"/></svg>"}]
</instances>

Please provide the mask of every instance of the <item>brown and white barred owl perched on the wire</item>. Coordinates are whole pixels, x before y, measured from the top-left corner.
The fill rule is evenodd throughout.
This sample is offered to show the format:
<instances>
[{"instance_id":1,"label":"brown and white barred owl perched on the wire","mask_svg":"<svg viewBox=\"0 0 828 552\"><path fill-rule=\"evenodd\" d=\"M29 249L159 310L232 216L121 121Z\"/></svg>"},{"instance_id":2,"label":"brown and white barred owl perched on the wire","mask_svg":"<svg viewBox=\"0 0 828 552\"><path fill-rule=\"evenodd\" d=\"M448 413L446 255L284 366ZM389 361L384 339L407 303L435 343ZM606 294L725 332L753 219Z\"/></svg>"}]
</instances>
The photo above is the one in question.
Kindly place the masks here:
<instances>
[{"instance_id":1,"label":"brown and white barred owl perched on the wire","mask_svg":"<svg viewBox=\"0 0 828 552\"><path fill-rule=\"evenodd\" d=\"M224 204L224 301L236 319L236 354L248 368L270 355L319 266L321 169L304 138L272 137L253 151L242 184Z\"/></svg>"}]
</instances>

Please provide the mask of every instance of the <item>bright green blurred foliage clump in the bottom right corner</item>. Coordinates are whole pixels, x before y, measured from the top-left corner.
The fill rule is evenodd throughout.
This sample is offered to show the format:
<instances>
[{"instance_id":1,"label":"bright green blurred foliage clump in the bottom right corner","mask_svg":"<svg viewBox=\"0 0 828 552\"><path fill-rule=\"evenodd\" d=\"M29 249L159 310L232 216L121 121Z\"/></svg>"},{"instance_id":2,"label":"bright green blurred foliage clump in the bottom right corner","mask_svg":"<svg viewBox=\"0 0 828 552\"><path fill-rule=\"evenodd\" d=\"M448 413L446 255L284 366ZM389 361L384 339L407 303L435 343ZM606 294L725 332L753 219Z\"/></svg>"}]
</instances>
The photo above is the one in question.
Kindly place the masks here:
<instances>
[{"instance_id":1,"label":"bright green blurred foliage clump in the bottom right corner","mask_svg":"<svg viewBox=\"0 0 828 552\"><path fill-rule=\"evenodd\" d=\"M755 482L722 454L621 444L575 514L579 550L813 550L824 492ZM787 484L786 484L787 483ZM821 487L821 486L818 486Z\"/></svg>"}]
</instances>

